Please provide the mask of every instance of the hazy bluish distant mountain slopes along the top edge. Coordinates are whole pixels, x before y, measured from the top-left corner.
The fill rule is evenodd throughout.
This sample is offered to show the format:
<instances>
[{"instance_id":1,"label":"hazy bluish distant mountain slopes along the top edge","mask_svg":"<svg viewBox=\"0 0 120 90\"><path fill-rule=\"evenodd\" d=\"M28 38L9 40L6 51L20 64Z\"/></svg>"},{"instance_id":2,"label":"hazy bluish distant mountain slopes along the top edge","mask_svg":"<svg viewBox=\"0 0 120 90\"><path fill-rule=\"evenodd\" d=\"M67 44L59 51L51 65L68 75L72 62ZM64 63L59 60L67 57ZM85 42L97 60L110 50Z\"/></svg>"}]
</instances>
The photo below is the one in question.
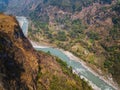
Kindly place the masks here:
<instances>
[{"instance_id":1,"label":"hazy bluish distant mountain slopes along the top edge","mask_svg":"<svg viewBox=\"0 0 120 90\"><path fill-rule=\"evenodd\" d=\"M111 4L112 0L1 0L1 10L12 14L27 14L37 7L57 6L62 10L75 12L93 3ZM28 12L29 11L29 12Z\"/></svg>"}]
</instances>

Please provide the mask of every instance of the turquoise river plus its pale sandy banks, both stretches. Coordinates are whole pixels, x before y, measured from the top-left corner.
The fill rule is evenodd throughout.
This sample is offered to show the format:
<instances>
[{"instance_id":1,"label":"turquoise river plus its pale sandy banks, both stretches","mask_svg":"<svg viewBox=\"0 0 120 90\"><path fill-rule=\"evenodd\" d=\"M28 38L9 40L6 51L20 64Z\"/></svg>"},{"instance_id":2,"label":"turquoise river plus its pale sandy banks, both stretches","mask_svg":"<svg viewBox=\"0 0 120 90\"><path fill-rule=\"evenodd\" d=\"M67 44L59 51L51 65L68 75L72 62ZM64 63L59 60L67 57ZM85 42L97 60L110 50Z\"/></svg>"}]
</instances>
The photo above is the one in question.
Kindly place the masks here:
<instances>
[{"instance_id":1,"label":"turquoise river plus its pale sandy banks, both stretches","mask_svg":"<svg viewBox=\"0 0 120 90\"><path fill-rule=\"evenodd\" d=\"M18 19L18 21L23 23L27 22L27 20L24 21L23 18ZM22 29L27 31L28 28L22 28ZM118 87L116 86L115 82L113 82L110 79L108 80L108 78L110 77L105 78L102 77L101 75L98 75L96 72L91 70L91 68L88 67L85 64L85 62L83 62L83 60L80 60L79 58L75 57L70 52L58 48L52 48L51 46L42 46L42 45L40 46L32 41L31 43L36 50L42 50L46 53L50 52L50 54L57 56L61 60L66 62L68 67L72 67L73 73L78 74L80 78L84 78L86 81L88 81L94 90L118 90Z\"/></svg>"}]
</instances>

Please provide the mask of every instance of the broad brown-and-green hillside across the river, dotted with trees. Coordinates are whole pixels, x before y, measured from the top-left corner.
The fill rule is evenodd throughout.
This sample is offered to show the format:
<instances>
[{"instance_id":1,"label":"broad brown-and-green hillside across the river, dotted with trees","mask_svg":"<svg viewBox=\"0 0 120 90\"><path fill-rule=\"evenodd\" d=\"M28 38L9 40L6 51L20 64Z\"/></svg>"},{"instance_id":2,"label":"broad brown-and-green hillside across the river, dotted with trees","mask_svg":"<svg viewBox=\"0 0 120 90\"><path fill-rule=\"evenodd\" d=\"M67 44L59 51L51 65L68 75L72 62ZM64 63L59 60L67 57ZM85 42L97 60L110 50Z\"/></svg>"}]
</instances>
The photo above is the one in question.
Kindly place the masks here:
<instances>
[{"instance_id":1,"label":"broad brown-and-green hillside across the river, dotted with trees","mask_svg":"<svg viewBox=\"0 0 120 90\"><path fill-rule=\"evenodd\" d=\"M67 2L70 6L62 2L66 1L47 0L30 13L29 38L69 50L101 75L112 75L120 83L117 79L120 70L119 1L96 1L75 11L71 9L75 2Z\"/></svg>"}]
</instances>

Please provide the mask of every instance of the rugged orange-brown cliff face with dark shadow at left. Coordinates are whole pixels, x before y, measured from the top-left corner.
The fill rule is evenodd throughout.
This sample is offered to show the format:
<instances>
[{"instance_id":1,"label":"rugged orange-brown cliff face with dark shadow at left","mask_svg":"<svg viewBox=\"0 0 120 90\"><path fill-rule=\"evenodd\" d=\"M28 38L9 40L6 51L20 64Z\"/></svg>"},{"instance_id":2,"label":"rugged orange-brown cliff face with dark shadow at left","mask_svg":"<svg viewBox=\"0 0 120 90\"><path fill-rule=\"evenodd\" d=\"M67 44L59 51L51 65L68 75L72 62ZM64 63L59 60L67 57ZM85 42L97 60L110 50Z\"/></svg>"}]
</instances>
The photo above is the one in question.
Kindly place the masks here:
<instances>
[{"instance_id":1,"label":"rugged orange-brown cliff face with dark shadow at left","mask_svg":"<svg viewBox=\"0 0 120 90\"><path fill-rule=\"evenodd\" d=\"M0 14L0 90L36 90L38 56L12 16Z\"/></svg>"}]
</instances>

